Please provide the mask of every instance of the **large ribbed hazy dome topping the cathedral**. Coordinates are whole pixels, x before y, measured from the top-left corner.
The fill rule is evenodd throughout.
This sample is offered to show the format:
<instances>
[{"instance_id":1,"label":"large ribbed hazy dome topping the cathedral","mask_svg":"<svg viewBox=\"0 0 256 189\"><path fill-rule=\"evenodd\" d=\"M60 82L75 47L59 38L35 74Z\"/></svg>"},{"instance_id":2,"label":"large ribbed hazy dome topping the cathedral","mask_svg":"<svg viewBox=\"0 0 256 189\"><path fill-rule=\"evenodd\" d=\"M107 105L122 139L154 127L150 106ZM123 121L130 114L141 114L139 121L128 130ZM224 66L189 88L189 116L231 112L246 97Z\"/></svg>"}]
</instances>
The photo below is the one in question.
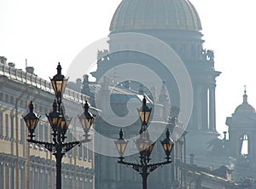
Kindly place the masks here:
<instances>
[{"instance_id":1,"label":"large ribbed hazy dome topping the cathedral","mask_svg":"<svg viewBox=\"0 0 256 189\"><path fill-rule=\"evenodd\" d=\"M109 28L110 32L150 29L201 31L201 20L189 0L123 0Z\"/></svg>"}]
</instances>

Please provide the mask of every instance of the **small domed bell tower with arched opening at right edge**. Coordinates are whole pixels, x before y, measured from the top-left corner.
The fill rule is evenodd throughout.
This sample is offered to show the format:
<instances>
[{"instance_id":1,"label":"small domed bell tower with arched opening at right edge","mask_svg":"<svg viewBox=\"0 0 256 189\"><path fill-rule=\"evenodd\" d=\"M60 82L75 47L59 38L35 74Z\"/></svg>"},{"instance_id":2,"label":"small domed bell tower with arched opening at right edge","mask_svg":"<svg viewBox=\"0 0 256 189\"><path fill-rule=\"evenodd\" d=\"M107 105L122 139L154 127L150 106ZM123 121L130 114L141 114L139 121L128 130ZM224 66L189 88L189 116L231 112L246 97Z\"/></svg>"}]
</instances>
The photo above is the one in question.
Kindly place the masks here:
<instances>
[{"instance_id":1,"label":"small domed bell tower with arched opening at right edge","mask_svg":"<svg viewBox=\"0 0 256 189\"><path fill-rule=\"evenodd\" d=\"M256 178L256 112L248 103L247 92L244 91L241 105L231 117L227 117L229 126L229 155L234 158L235 169L232 174L236 180Z\"/></svg>"}]
</instances>

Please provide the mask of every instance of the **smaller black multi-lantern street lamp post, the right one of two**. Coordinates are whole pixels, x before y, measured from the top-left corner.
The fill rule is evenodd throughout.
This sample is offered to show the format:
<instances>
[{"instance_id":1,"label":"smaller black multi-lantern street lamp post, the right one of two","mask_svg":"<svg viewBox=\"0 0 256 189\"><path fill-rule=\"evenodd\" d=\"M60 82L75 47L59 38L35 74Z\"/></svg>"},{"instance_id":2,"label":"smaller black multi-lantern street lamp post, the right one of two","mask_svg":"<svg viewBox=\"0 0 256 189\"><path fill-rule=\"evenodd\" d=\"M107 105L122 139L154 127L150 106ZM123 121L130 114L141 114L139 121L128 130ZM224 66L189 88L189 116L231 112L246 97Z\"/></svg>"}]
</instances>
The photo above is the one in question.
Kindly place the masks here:
<instances>
[{"instance_id":1,"label":"smaller black multi-lantern street lamp post, the right one of two","mask_svg":"<svg viewBox=\"0 0 256 189\"><path fill-rule=\"evenodd\" d=\"M140 153L140 163L129 163L124 161L124 153L128 141L124 139L124 132L122 129L119 131L119 139L115 141L115 145L119 152L119 161L120 164L125 164L130 166L132 169L135 169L143 177L143 189L147 189L147 179L150 172L154 169L159 168L168 163L172 163L170 155L174 142L170 138L169 129L166 130L166 139L161 141L164 151L166 152L166 161L160 163L150 163L150 155L154 149L155 142L153 143L149 139L148 133L148 120L151 113L151 108L148 108L146 105L146 98L143 98L143 106L138 109L138 113L142 122L141 129L139 130L139 138L135 141L137 150Z\"/></svg>"}]
</instances>

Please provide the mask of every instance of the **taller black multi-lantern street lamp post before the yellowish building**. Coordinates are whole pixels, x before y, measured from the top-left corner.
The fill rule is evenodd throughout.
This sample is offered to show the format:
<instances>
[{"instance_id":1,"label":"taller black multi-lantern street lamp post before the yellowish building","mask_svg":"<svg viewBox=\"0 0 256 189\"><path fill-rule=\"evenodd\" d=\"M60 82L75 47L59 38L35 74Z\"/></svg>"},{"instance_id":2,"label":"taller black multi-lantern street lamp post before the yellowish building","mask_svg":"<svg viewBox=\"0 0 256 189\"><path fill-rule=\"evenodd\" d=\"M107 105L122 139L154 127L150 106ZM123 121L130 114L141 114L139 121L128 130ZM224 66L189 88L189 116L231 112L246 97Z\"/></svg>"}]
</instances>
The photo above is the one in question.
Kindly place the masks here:
<instances>
[{"instance_id":1,"label":"taller black multi-lantern street lamp post before the yellowish building","mask_svg":"<svg viewBox=\"0 0 256 189\"><path fill-rule=\"evenodd\" d=\"M61 160L66 152L70 151L74 146L80 145L81 142L90 141L88 133L90 131L91 124L93 123L94 117L91 116L90 112L88 112L89 105L87 101L84 104L84 113L79 116L79 120L82 123L84 132L85 132L85 140L82 141L72 141L65 142L67 138L66 132L71 122L71 118L65 116L63 110L62 96L67 86L67 78L61 75L61 65L57 66L57 74L50 78L52 87L55 91L55 101L53 103L53 111L46 114L48 118L49 124L52 128L53 142L45 142L34 140L34 131L37 127L40 116L33 112L33 104L32 101L29 105L29 112L23 117L26 127L29 130L29 139L28 142L36 144L38 146L43 146L49 152L52 152L56 159L56 189L61 189ZM85 108L86 107L86 108Z\"/></svg>"}]
</instances>

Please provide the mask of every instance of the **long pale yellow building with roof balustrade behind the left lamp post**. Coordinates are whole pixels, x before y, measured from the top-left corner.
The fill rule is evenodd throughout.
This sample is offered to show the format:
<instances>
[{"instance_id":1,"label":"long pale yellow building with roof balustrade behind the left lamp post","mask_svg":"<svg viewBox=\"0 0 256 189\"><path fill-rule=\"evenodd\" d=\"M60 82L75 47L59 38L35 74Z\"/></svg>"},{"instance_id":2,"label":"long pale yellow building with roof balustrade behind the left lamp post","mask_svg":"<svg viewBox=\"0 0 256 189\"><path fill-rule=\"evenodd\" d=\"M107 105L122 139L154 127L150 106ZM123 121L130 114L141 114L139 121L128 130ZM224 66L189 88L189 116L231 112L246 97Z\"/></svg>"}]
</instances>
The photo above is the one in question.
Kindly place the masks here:
<instances>
[{"instance_id":1,"label":"long pale yellow building with roof balustrade behind the left lamp post","mask_svg":"<svg viewBox=\"0 0 256 189\"><path fill-rule=\"evenodd\" d=\"M77 115L88 96L67 89L64 95L67 115L73 117L67 140L82 140ZM33 72L22 72L14 64L0 63L0 188L55 188L55 157L42 146L26 141L28 130L22 116L30 101L42 115L35 130L36 140L51 141L51 128L45 113L51 112L53 89ZM62 160L62 188L95 188L94 155L86 144L75 147Z\"/></svg>"}]
</instances>

